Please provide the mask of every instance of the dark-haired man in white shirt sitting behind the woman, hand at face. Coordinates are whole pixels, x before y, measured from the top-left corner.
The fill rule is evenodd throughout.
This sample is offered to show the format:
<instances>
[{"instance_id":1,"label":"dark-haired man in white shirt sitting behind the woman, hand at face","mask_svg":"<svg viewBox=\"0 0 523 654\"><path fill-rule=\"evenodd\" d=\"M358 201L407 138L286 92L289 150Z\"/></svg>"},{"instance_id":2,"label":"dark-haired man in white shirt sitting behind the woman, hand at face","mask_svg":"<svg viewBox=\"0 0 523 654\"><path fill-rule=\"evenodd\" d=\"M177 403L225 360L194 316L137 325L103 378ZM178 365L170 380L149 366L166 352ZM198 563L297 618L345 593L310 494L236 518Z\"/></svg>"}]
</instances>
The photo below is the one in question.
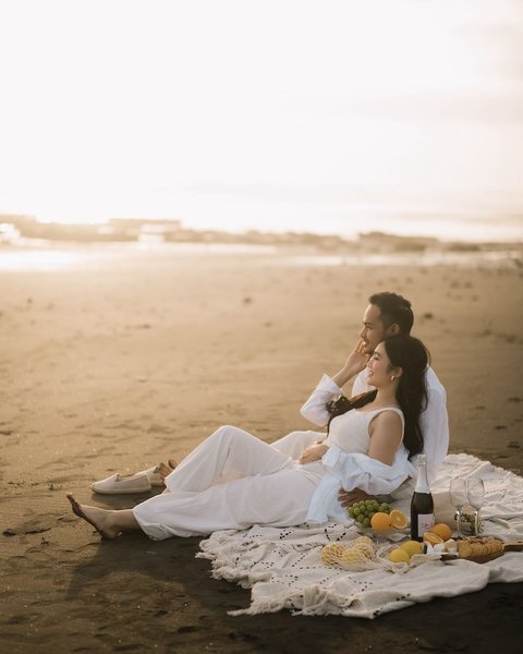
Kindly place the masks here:
<instances>
[{"instance_id":1,"label":"dark-haired man in white shirt sitting behind the woman, hand at face","mask_svg":"<svg viewBox=\"0 0 523 654\"><path fill-rule=\"evenodd\" d=\"M414 323L411 303L397 293L375 293L368 299L369 305L363 316L363 328L360 340L346 359L343 367L333 377L324 375L312 396L301 409L301 413L308 421L319 427L325 427L330 419L326 409L327 402L343 393L342 387L355 377L351 397L372 390L367 384L366 363L376 346L384 338L398 334L410 334ZM434 479L437 468L447 456L449 448L449 424L447 415L447 393L431 367L427 367L427 407L422 413L419 425L424 437L424 453L427 455L427 469L429 480ZM301 436L300 436L301 435ZM296 456L299 448L304 448L315 439L321 439L324 434L315 432L294 432L272 444L273 447ZM406 485L405 493L412 493L412 487ZM394 494L396 496L396 494ZM342 506L350 506L354 501L367 497L358 488L340 493ZM398 497L401 497L401 487Z\"/></svg>"}]
</instances>

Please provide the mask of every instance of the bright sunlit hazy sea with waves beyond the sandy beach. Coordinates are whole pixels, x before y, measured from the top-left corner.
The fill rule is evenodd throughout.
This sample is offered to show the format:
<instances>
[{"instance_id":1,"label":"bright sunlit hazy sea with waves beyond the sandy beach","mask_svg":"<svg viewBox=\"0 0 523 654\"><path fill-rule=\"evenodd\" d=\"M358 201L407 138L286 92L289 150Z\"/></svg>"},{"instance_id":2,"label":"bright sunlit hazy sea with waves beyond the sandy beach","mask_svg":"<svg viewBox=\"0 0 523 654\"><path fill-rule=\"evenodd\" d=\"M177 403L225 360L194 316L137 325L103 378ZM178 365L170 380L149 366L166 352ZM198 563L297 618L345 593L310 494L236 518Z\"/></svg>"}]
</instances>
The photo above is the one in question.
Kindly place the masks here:
<instances>
[{"instance_id":1,"label":"bright sunlit hazy sea with waves beyond the sandy beach","mask_svg":"<svg viewBox=\"0 0 523 654\"><path fill-rule=\"evenodd\" d=\"M241 192L192 189L170 199L169 205L175 210L157 205L150 210L142 207L134 215L127 210L125 215L112 217L73 211L60 216L59 220L46 220L45 215L33 217L37 222L48 225L49 234L52 225L104 225L106 219L111 218L136 221L136 225L148 221L147 230L139 234L136 242L104 243L96 251L93 247L82 251L74 239L68 244L57 238L20 238L16 229L9 223L9 216L0 213L0 270L66 269L73 265L100 262L100 257L131 253L146 255L150 251L181 256L202 252L217 255L278 253L270 238L264 241L253 238L253 233L333 235L354 242L361 241L362 234L377 234L378 238L382 235L385 243L387 237L399 237L434 239L441 245L417 251L415 247L380 247L373 252L368 250L367 241L366 247L360 253L352 249L344 254L288 254L279 259L285 265L522 265L523 210L519 211L514 203L491 197L481 204L443 202L435 197L404 202L389 194L385 198L358 199L337 193L336 190L331 194L328 190L321 193L268 193L254 187ZM155 220L158 221L156 230ZM166 242L162 230L170 230L171 223L185 230L208 232L208 238L195 238L194 243ZM236 239L221 241L220 232L235 234ZM245 234L244 242L238 239L239 234ZM275 240L275 243L281 242L281 239ZM460 249L457 244L464 246ZM485 247L485 244L491 247Z\"/></svg>"}]
</instances>

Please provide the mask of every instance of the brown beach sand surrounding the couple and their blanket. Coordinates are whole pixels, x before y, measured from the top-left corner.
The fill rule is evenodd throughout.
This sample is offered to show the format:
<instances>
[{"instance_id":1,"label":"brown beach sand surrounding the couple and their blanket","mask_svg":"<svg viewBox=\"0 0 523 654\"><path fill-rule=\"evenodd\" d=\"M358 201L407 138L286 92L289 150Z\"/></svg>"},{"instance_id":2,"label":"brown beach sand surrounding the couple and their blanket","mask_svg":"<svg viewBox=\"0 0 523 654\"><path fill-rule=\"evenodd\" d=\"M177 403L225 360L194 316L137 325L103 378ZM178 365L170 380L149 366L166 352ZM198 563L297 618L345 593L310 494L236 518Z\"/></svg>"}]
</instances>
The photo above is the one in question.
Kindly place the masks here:
<instances>
[{"instance_id":1,"label":"brown beach sand surrounding the couple and their blanket","mask_svg":"<svg viewBox=\"0 0 523 654\"><path fill-rule=\"evenodd\" d=\"M210 578L209 562L194 558L199 538L101 542L65 499L73 492L132 507L147 496L94 496L90 483L181 459L221 424L267 441L309 428L301 404L321 373L339 370L379 290L413 303L413 334L448 391L451 451L521 474L520 267L326 265L289 253L169 247L68 252L73 261L54 257L58 267L35 255L35 265L29 256L0 271L5 651L521 651L523 584L373 621L231 617L248 605L248 591Z\"/></svg>"}]
</instances>

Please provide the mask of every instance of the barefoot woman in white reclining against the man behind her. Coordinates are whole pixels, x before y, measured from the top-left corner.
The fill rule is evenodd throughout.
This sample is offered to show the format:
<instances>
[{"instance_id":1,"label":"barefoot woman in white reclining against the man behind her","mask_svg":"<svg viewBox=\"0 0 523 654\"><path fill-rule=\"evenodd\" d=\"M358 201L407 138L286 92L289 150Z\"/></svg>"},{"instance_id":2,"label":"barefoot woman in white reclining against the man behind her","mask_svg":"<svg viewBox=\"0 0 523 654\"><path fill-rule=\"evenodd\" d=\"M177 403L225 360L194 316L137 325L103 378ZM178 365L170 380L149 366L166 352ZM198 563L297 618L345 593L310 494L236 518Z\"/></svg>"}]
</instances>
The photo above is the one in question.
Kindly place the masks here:
<instances>
[{"instance_id":1,"label":"barefoot woman in white reclining against the man behind her","mask_svg":"<svg viewBox=\"0 0 523 654\"><path fill-rule=\"evenodd\" d=\"M426 398L426 365L425 347L413 337L380 343L368 362L376 390L352 403L345 400L341 409L340 402L335 403L328 437L307 448L299 461L238 427L224 426L166 477L163 494L134 509L111 511L81 505L72 495L68 498L74 513L104 538L142 529L149 537L163 540L253 524L301 524L313 498L316 514L321 512L318 506L326 512L330 500L326 501L320 483L324 477L331 483L332 475L345 489L348 484L364 487L366 479L377 475L382 492L391 492L412 473L409 459L423 447L418 417ZM324 464L329 457L333 468ZM314 514L309 519L317 521Z\"/></svg>"}]
</instances>

